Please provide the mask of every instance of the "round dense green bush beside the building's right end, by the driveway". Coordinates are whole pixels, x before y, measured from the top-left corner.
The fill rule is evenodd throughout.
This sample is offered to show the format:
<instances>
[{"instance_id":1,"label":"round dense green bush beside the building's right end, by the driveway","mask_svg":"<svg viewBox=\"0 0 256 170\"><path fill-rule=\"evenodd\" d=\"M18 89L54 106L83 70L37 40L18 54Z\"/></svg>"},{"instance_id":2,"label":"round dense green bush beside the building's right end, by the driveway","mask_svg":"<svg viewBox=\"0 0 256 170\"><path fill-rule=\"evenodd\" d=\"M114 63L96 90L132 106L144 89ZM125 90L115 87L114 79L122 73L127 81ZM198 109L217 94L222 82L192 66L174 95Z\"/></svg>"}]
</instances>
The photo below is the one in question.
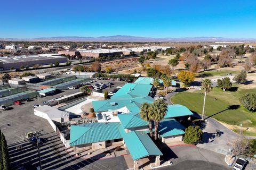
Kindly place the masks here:
<instances>
[{"instance_id":1,"label":"round dense green bush beside the building's right end, by the driveway","mask_svg":"<svg viewBox=\"0 0 256 170\"><path fill-rule=\"evenodd\" d=\"M203 131L199 126L189 126L185 132L184 142L187 144L196 145L203 139Z\"/></svg>"}]
</instances>

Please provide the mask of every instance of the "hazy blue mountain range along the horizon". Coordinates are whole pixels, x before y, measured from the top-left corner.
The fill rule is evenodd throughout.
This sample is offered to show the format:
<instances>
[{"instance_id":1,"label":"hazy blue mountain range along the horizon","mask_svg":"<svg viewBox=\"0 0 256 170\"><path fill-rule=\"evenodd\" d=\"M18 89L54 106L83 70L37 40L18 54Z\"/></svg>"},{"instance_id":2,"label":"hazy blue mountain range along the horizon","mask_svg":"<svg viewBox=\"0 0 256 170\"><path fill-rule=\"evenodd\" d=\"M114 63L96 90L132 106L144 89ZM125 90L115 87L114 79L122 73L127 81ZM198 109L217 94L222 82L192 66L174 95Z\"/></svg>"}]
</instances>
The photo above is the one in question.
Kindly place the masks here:
<instances>
[{"instance_id":1,"label":"hazy blue mountain range along the horizon","mask_svg":"<svg viewBox=\"0 0 256 170\"><path fill-rule=\"evenodd\" d=\"M41 38L0 38L0 41L124 41L124 42L215 42L215 41L256 41L256 38L223 37L184 37L150 38L136 36L101 36L101 37L41 37Z\"/></svg>"}]
</instances>

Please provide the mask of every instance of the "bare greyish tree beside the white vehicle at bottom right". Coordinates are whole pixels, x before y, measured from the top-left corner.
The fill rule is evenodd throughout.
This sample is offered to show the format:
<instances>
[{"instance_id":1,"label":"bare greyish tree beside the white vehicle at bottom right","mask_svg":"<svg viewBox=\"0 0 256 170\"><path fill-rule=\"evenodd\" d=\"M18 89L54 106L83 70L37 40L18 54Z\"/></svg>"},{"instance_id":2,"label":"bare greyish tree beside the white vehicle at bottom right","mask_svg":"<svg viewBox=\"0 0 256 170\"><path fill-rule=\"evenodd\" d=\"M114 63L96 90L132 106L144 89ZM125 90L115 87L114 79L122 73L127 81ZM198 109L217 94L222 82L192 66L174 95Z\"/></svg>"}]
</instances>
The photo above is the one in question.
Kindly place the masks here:
<instances>
[{"instance_id":1,"label":"bare greyish tree beside the white vehicle at bottom right","mask_svg":"<svg viewBox=\"0 0 256 170\"><path fill-rule=\"evenodd\" d=\"M227 142L227 145L229 146L231 157L251 154L251 143L249 139L240 137Z\"/></svg>"}]
</instances>

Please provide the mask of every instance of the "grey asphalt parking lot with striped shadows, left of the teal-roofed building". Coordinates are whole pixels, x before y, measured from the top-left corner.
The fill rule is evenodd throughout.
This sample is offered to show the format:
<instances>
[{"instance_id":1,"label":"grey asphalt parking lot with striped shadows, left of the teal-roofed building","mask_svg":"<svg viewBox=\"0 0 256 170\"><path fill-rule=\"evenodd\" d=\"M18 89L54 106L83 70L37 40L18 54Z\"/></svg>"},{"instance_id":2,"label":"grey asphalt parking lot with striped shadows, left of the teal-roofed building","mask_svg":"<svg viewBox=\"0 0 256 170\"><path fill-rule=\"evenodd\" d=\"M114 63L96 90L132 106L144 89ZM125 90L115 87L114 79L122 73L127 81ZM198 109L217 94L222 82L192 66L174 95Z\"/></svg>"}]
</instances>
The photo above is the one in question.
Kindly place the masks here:
<instances>
[{"instance_id":1,"label":"grey asphalt parking lot with striped shadows, left of the teal-roofed building","mask_svg":"<svg viewBox=\"0 0 256 170\"><path fill-rule=\"evenodd\" d=\"M98 80L95 83L107 83L109 80ZM98 92L113 91L117 86L123 86L124 81L111 81L113 85ZM91 85L92 85L91 84ZM5 134L10 151L12 166L24 166L27 169L36 169L39 165L37 148L33 147L26 138L26 133L40 131L42 138L41 158L43 169L126 169L127 165L123 157L111 160L116 164L109 164L105 160L83 160L70 156L53 131L50 124L43 118L35 116L33 105L43 104L60 96L67 96L80 91L80 89L69 89L53 96L34 98L31 101L22 101L21 105L12 105L7 111L0 111L0 129ZM97 91L94 90L93 91ZM17 150L17 146L22 145L22 149ZM90 165L89 165L90 164ZM116 166L118 165L118 166Z\"/></svg>"}]
</instances>

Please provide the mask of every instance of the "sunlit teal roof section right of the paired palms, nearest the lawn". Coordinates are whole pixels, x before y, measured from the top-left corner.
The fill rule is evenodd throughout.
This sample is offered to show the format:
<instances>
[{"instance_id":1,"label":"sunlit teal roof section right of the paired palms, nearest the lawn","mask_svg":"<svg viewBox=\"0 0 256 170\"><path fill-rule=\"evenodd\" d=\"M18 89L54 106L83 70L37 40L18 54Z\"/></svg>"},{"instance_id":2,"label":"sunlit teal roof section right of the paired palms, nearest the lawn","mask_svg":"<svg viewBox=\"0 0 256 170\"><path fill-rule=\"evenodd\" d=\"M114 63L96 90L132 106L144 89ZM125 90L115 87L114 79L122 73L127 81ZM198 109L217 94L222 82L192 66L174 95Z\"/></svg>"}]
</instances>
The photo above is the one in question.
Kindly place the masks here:
<instances>
[{"instance_id":1,"label":"sunlit teal roof section right of the paired palms, nearest the lawn","mask_svg":"<svg viewBox=\"0 0 256 170\"><path fill-rule=\"evenodd\" d=\"M186 106L182 106L182 105L168 105L167 109L168 110L164 118L193 115L193 113L189 111L189 109Z\"/></svg>"}]
</instances>

